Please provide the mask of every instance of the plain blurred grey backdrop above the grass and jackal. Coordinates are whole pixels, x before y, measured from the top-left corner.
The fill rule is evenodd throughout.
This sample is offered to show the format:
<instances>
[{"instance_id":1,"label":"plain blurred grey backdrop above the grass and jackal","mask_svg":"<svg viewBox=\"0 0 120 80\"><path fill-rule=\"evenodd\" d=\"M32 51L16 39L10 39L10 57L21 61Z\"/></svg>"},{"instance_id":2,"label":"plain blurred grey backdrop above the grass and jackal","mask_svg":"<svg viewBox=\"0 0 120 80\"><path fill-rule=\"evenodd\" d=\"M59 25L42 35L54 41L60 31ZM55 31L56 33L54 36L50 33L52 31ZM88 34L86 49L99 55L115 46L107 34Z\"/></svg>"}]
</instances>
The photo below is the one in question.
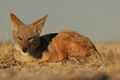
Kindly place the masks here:
<instances>
[{"instance_id":1,"label":"plain blurred grey backdrop above the grass and jackal","mask_svg":"<svg viewBox=\"0 0 120 80\"><path fill-rule=\"evenodd\" d=\"M120 0L0 0L0 40L12 39L11 12L26 24L48 14L42 34L74 30L95 42L120 40Z\"/></svg>"}]
</instances>

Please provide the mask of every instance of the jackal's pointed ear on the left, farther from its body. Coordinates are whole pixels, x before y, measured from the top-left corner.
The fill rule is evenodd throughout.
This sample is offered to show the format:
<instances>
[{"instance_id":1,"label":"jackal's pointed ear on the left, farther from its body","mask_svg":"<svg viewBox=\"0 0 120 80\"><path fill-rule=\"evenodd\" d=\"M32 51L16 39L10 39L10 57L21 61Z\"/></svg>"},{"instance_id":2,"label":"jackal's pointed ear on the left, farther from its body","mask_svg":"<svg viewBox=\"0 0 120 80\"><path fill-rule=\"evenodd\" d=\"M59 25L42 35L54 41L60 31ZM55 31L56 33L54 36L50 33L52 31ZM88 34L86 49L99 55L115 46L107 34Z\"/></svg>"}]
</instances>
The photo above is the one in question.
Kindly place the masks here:
<instances>
[{"instance_id":1,"label":"jackal's pointed ear on the left, farther from its body","mask_svg":"<svg viewBox=\"0 0 120 80\"><path fill-rule=\"evenodd\" d=\"M13 13L10 13L10 20L13 24L14 29L17 29L20 25L23 25L24 23L18 19Z\"/></svg>"}]
</instances>

